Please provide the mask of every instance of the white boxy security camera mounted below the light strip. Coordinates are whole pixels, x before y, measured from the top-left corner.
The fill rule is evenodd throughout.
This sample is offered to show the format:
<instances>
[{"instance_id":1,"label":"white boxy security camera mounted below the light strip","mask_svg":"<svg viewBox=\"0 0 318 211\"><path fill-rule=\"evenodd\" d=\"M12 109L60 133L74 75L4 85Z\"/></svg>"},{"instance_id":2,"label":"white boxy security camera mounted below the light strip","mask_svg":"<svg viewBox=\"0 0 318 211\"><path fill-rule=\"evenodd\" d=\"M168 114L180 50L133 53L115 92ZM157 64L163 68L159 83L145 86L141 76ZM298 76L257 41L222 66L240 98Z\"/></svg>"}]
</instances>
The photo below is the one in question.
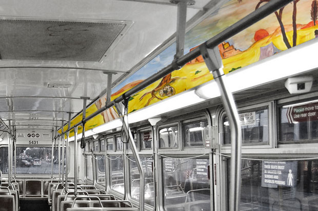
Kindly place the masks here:
<instances>
[{"instance_id":1,"label":"white boxy security camera mounted below the light strip","mask_svg":"<svg viewBox=\"0 0 318 211\"><path fill-rule=\"evenodd\" d=\"M285 87L291 94L306 93L310 91L312 82L312 76L292 77L285 81Z\"/></svg>"}]
</instances>

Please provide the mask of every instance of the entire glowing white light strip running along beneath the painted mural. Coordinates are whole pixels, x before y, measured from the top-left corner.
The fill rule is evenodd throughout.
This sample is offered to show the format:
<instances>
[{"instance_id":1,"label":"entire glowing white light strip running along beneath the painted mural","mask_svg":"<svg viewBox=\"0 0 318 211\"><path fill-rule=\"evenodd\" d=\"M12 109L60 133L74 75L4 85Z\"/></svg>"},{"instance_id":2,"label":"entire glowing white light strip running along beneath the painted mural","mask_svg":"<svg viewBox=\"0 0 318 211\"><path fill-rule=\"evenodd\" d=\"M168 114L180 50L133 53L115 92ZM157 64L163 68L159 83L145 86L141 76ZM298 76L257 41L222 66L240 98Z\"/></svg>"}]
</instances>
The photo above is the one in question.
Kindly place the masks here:
<instances>
[{"instance_id":1,"label":"entire glowing white light strip running along beneath the painted mural","mask_svg":"<svg viewBox=\"0 0 318 211\"><path fill-rule=\"evenodd\" d=\"M305 73L317 68L316 51L318 39L307 41L292 49L250 64L226 75L226 83L232 92L237 92L253 86L280 80L295 74ZM162 100L145 108L128 114L129 123L148 120L154 116L191 106L207 99L220 97L220 91L214 80L200 86L183 91L178 95ZM105 132L122 126L120 119L105 123L91 130L92 134ZM86 134L89 131L86 131ZM81 134L77 135L81 138ZM74 137L69 138L74 140Z\"/></svg>"}]
</instances>

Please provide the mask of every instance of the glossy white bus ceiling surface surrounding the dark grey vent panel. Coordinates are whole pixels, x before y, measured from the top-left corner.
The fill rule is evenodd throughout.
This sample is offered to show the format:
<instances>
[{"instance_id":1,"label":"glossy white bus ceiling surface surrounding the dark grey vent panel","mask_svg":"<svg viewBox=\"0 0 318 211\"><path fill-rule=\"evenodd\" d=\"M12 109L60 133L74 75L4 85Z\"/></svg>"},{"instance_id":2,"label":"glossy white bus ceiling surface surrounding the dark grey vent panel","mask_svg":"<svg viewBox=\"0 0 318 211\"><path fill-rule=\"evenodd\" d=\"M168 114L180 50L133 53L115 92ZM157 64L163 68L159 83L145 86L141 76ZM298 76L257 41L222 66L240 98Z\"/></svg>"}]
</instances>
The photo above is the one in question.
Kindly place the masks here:
<instances>
[{"instance_id":1,"label":"glossy white bus ceiling surface surrounding the dark grey vent panel","mask_svg":"<svg viewBox=\"0 0 318 211\"><path fill-rule=\"evenodd\" d=\"M188 8L187 20L209 1L197 0L194 6ZM102 71L43 67L97 68L117 72L112 81L120 78L176 31L175 5L145 2L147 1L0 1L2 19L84 22L114 20L130 23L120 41L112 46L102 62L0 60L0 67L36 66L0 68L0 118L7 125L8 120L15 119L13 125L22 125L17 126L17 129L30 128L25 125L32 125L34 129L52 129L51 125L62 124L56 120L68 119L66 112L72 112L74 116L81 111L83 101L78 98L87 96L92 100L100 95L107 88L107 75ZM167 3L167 0L155 2ZM47 88L47 82L67 82L71 85L68 88ZM12 105L14 112L6 112L9 111L8 105Z\"/></svg>"}]
</instances>

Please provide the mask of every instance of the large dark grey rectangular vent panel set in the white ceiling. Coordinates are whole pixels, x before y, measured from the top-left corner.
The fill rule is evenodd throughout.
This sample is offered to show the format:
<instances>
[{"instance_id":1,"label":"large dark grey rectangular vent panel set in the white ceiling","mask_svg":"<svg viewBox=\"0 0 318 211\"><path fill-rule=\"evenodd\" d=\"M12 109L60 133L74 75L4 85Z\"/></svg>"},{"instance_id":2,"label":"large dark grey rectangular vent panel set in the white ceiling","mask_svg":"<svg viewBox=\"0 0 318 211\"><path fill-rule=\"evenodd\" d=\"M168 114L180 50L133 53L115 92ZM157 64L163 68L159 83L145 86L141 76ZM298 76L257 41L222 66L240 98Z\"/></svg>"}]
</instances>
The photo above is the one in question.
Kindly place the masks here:
<instances>
[{"instance_id":1,"label":"large dark grey rectangular vent panel set in the white ceiling","mask_svg":"<svg viewBox=\"0 0 318 211\"><path fill-rule=\"evenodd\" d=\"M97 62L125 26L108 20L0 20L1 59Z\"/></svg>"}]
</instances>

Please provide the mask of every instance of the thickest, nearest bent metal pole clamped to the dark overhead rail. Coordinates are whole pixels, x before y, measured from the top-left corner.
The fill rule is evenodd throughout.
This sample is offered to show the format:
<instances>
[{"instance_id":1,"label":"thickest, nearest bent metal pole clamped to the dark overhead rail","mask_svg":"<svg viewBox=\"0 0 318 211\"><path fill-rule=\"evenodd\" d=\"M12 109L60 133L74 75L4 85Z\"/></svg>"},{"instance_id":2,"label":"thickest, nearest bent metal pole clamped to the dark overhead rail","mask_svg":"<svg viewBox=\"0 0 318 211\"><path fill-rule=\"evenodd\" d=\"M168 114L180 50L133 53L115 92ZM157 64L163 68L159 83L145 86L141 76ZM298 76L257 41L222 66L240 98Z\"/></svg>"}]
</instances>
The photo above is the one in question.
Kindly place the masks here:
<instances>
[{"instance_id":1,"label":"thickest, nearest bent metal pole clamped to the dark overhead rail","mask_svg":"<svg viewBox=\"0 0 318 211\"><path fill-rule=\"evenodd\" d=\"M238 112L234 102L233 95L226 85L226 77L223 72L223 64L218 50L218 46L208 49L205 44L200 45L200 51L204 61L212 73L221 93L222 103L229 118L231 129L231 171L230 171L230 193L229 210L240 210L241 197L241 148L242 135L241 126L238 119ZM211 90L213 91L213 90Z\"/></svg>"}]
</instances>

